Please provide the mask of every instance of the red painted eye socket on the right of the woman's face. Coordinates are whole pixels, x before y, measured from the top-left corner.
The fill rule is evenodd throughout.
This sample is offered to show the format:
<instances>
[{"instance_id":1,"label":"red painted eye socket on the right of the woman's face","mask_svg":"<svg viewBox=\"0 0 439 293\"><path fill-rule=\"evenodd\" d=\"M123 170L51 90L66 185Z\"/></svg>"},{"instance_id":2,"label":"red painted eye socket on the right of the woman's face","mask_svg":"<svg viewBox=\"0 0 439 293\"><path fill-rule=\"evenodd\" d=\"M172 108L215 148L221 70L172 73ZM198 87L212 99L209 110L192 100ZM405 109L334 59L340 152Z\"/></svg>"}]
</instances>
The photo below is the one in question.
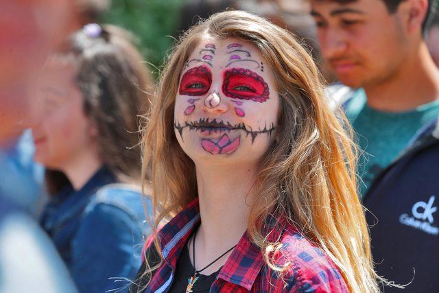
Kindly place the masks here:
<instances>
[{"instance_id":1,"label":"red painted eye socket on the right of the woman's face","mask_svg":"<svg viewBox=\"0 0 439 293\"><path fill-rule=\"evenodd\" d=\"M224 72L222 86L224 95L235 99L251 99L265 102L270 96L268 84L257 73L249 69L233 68Z\"/></svg>"}]
</instances>

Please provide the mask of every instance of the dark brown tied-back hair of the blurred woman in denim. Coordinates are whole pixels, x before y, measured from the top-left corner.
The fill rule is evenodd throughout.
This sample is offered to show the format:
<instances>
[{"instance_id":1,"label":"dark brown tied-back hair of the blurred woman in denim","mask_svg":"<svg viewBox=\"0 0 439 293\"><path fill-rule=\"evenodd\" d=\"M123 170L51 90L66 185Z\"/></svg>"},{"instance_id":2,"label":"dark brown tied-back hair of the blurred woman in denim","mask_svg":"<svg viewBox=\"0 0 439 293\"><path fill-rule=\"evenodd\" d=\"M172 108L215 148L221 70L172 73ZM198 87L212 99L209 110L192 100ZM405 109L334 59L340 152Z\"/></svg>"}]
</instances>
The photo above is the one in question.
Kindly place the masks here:
<instances>
[{"instance_id":1,"label":"dark brown tied-back hair of the blurred woman in denim","mask_svg":"<svg viewBox=\"0 0 439 293\"><path fill-rule=\"evenodd\" d=\"M92 27L73 33L54 55L75 68L74 82L84 98L85 115L97 127L104 164L119 178L138 180L139 119L149 109L154 83L128 32L112 25ZM67 183L56 173L46 172L49 194Z\"/></svg>"}]
</instances>

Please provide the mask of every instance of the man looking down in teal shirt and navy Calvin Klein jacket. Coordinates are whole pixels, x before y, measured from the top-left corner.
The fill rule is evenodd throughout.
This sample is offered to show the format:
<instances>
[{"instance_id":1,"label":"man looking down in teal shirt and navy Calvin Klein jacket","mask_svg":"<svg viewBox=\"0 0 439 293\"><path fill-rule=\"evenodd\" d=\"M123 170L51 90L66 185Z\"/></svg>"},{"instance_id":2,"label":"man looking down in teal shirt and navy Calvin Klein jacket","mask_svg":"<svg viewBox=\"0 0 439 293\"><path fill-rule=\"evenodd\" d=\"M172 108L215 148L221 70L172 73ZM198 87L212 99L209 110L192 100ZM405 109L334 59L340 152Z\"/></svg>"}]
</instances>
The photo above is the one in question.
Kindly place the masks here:
<instances>
[{"instance_id":1,"label":"man looking down in teal shirt and navy Calvin Klein jacket","mask_svg":"<svg viewBox=\"0 0 439 293\"><path fill-rule=\"evenodd\" d=\"M353 92L372 255L409 292L439 290L439 72L423 40L436 1L311 0L322 54ZM386 288L393 292L396 288Z\"/></svg>"}]
</instances>

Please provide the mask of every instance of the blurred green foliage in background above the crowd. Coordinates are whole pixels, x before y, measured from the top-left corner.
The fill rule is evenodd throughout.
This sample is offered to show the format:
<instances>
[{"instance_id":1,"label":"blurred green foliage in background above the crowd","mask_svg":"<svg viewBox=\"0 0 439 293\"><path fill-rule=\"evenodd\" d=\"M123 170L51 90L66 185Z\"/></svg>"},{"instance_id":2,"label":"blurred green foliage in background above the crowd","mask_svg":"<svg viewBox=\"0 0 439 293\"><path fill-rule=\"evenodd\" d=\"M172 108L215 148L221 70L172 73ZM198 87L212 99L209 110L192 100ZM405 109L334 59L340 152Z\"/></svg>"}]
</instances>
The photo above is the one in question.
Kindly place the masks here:
<instances>
[{"instance_id":1,"label":"blurred green foliage in background above the crowd","mask_svg":"<svg viewBox=\"0 0 439 293\"><path fill-rule=\"evenodd\" d=\"M112 0L102 23L119 25L139 38L141 53L147 62L160 67L177 35L180 7L184 0ZM150 68L157 75L154 66Z\"/></svg>"}]
</instances>

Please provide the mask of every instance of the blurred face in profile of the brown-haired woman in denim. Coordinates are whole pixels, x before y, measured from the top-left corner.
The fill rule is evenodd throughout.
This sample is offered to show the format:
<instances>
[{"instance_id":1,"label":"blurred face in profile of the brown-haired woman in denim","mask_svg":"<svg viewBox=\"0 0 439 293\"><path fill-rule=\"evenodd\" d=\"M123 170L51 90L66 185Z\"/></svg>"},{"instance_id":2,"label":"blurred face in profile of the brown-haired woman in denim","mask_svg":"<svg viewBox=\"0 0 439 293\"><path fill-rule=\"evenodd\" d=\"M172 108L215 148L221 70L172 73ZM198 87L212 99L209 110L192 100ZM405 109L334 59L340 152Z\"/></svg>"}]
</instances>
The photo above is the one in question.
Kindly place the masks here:
<instances>
[{"instance_id":1,"label":"blurred face in profile of the brown-haired woman in denim","mask_svg":"<svg viewBox=\"0 0 439 293\"><path fill-rule=\"evenodd\" d=\"M34 86L35 161L51 169L74 163L93 145L95 127L83 111L71 65L50 62Z\"/></svg>"}]
</instances>

